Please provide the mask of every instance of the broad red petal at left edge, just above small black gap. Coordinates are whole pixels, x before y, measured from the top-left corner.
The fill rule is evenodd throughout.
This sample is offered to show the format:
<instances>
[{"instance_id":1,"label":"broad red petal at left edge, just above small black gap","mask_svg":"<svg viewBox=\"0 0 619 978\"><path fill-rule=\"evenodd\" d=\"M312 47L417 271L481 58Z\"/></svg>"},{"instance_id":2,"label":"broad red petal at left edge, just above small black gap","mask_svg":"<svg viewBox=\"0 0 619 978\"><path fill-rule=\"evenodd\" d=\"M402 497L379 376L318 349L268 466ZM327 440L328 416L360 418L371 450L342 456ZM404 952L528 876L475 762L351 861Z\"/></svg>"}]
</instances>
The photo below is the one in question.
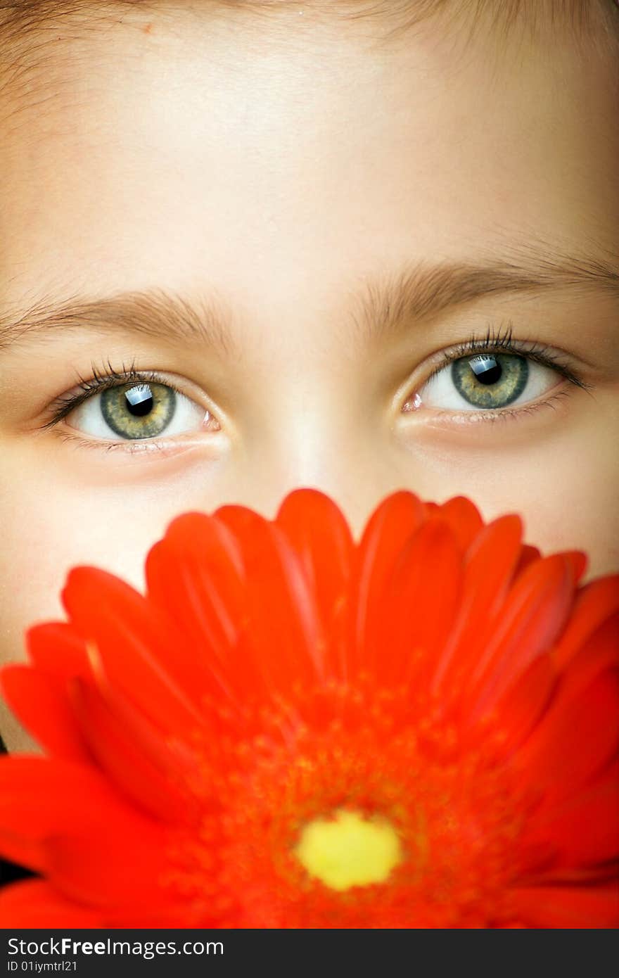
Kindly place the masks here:
<instances>
[{"instance_id":1,"label":"broad red petal at left edge, just above small black gap","mask_svg":"<svg viewBox=\"0 0 619 978\"><path fill-rule=\"evenodd\" d=\"M168 838L80 765L38 757L0 761L0 851L48 875L69 899L124 908L165 902Z\"/></svg>"}]
</instances>

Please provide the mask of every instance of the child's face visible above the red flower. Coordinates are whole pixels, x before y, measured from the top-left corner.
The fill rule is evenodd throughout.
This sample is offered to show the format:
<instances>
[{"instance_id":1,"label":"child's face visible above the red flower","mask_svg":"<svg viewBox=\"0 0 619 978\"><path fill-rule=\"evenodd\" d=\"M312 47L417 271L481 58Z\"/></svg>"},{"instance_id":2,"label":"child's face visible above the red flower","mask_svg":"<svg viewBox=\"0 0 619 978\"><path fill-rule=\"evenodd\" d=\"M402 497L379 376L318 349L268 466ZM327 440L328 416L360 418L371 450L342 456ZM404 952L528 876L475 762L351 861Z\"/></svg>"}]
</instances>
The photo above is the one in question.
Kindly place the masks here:
<instances>
[{"instance_id":1,"label":"child's face visible above the red flower","mask_svg":"<svg viewBox=\"0 0 619 978\"><path fill-rule=\"evenodd\" d=\"M178 512L273 515L299 485L356 532L396 489L462 493L617 569L610 59L464 47L431 23L371 48L353 24L177 14L72 40L33 86L0 101L0 315L82 309L0 352L3 658L61 614L71 565L141 586ZM144 301L124 325L83 308L151 289L205 329ZM459 346L488 333L477 376ZM158 386L95 391L43 428L93 365Z\"/></svg>"}]
</instances>

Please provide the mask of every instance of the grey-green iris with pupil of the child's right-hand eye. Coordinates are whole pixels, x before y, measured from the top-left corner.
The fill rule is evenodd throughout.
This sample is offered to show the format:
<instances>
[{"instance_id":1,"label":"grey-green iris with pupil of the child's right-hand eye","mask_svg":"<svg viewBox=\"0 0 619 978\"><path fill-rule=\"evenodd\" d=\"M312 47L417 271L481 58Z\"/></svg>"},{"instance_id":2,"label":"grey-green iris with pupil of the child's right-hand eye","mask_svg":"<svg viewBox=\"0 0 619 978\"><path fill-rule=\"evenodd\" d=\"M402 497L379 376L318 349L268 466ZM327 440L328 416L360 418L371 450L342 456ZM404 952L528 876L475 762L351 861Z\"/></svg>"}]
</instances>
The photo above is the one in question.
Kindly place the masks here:
<instances>
[{"instance_id":1,"label":"grey-green iris with pupil of the child's right-hand eye","mask_svg":"<svg viewBox=\"0 0 619 978\"><path fill-rule=\"evenodd\" d=\"M529 378L529 364L510 353L482 353L454 361L451 375L468 404L498 409L520 396Z\"/></svg>"}]
</instances>

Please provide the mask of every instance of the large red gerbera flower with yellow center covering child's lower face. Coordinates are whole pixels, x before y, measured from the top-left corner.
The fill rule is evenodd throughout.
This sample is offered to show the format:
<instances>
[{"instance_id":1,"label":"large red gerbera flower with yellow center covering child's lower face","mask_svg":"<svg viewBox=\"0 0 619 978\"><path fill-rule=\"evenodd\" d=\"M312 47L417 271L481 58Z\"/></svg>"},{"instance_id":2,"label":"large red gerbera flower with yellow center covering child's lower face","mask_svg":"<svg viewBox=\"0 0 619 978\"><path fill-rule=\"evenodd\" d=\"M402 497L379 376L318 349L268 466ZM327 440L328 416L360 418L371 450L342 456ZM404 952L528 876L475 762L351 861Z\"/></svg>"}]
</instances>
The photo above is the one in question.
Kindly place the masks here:
<instances>
[{"instance_id":1,"label":"large red gerbera flower with yellow center covering child's lower face","mask_svg":"<svg viewBox=\"0 0 619 978\"><path fill-rule=\"evenodd\" d=\"M190 513L4 689L5 926L613 927L619 578L399 492Z\"/></svg>"}]
</instances>

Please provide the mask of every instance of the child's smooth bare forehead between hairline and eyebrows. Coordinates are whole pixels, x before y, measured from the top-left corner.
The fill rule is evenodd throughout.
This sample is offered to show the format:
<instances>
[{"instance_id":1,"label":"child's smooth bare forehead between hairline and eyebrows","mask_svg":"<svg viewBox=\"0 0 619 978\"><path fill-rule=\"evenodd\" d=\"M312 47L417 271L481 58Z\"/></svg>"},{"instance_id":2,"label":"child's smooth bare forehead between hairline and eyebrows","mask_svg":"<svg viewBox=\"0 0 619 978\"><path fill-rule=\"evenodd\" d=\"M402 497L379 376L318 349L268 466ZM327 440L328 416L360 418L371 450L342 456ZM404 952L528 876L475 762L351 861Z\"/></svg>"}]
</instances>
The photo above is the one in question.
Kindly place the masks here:
<instances>
[{"instance_id":1,"label":"child's smooth bare forehead between hairline and eyebrows","mask_svg":"<svg viewBox=\"0 0 619 978\"><path fill-rule=\"evenodd\" d=\"M9 302L215 288L268 319L428 257L616 252L614 69L569 46L194 13L64 38L32 79L0 99Z\"/></svg>"}]
</instances>

